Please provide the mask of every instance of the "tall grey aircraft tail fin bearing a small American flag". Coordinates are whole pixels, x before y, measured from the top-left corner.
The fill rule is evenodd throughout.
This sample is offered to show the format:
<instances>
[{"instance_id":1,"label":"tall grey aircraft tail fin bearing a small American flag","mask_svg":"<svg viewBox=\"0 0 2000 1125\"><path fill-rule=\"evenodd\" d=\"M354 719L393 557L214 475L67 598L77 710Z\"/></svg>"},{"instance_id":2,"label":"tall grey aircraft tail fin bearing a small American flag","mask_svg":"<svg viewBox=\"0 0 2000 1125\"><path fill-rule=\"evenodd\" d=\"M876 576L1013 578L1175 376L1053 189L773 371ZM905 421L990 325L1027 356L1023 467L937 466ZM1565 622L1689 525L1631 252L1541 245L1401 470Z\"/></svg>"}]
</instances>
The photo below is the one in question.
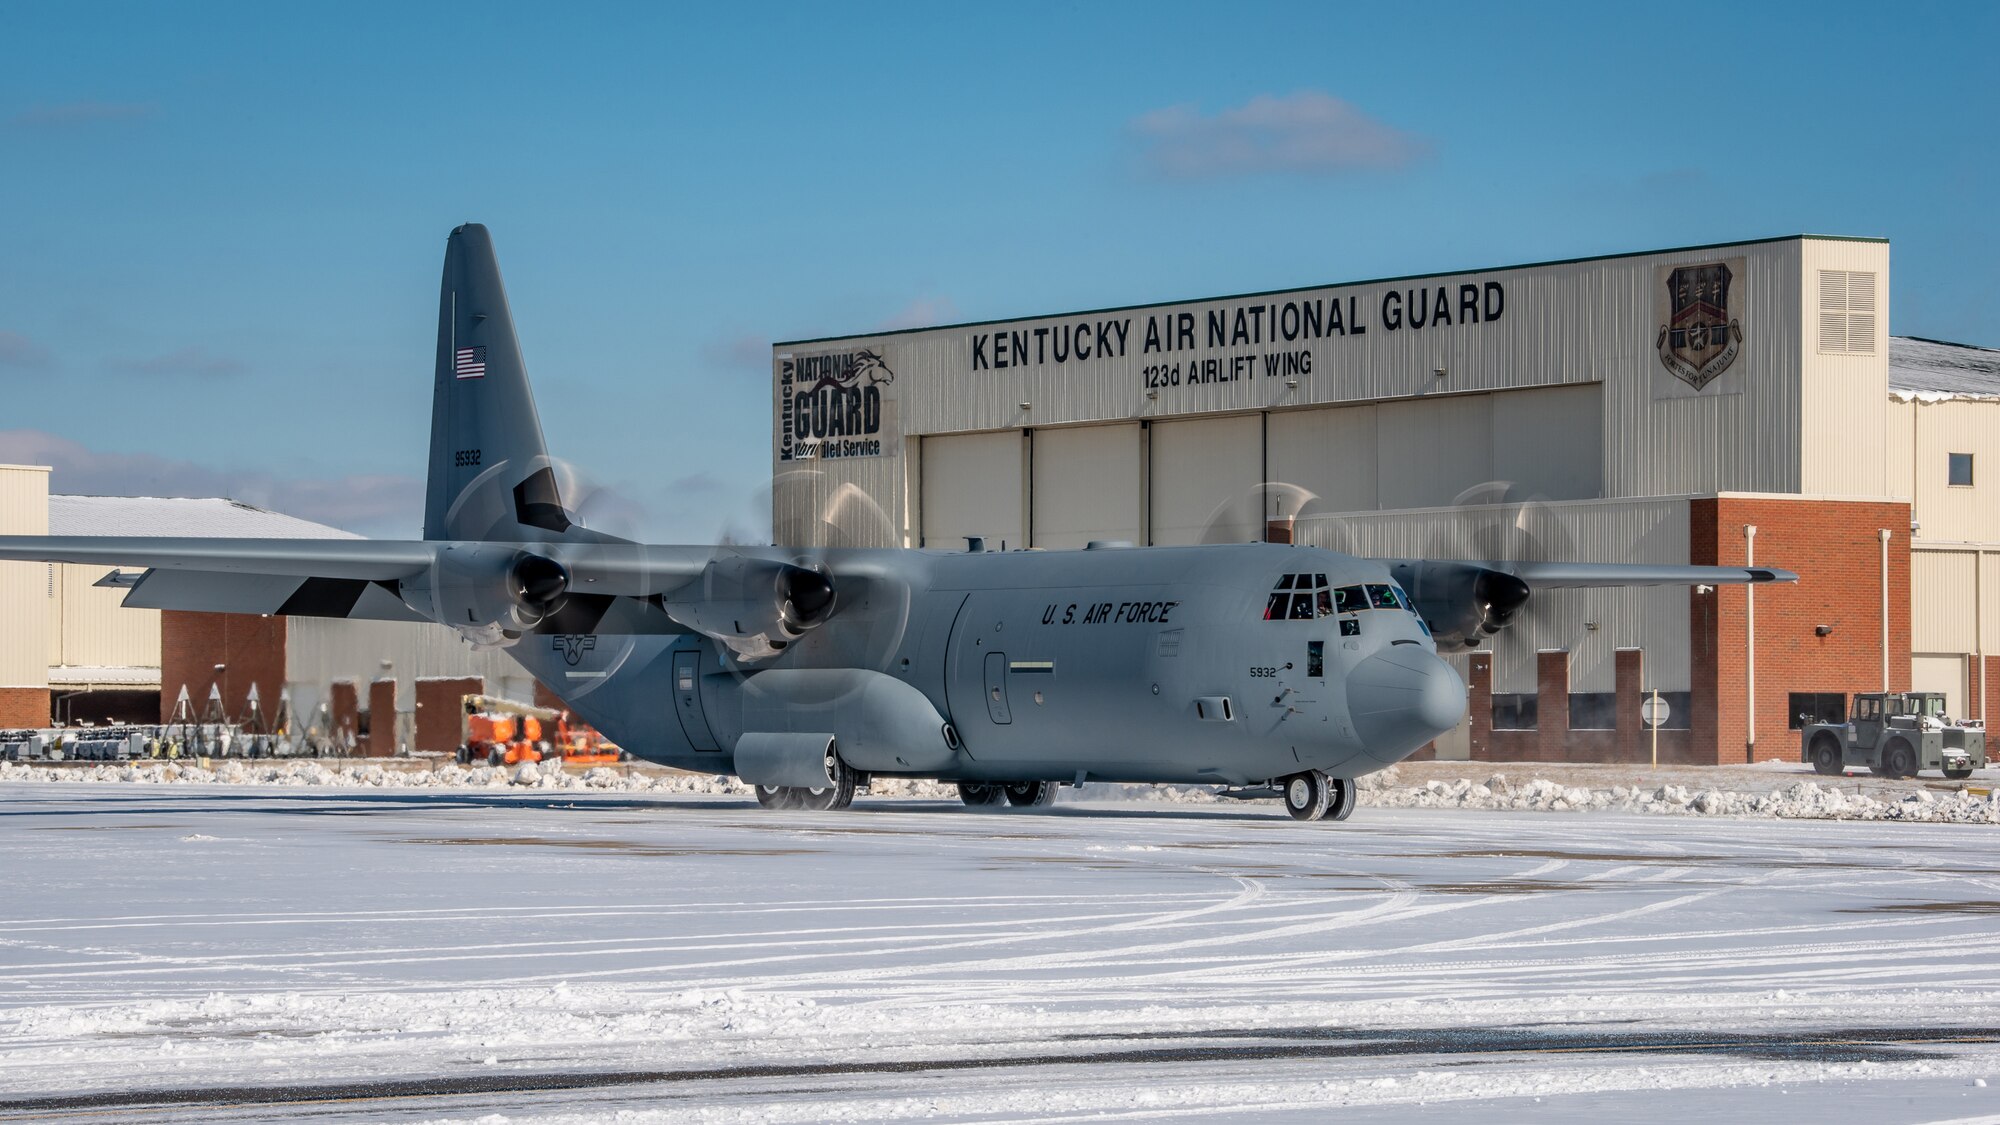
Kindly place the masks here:
<instances>
[{"instance_id":1,"label":"tall grey aircraft tail fin bearing a small American flag","mask_svg":"<svg viewBox=\"0 0 2000 1125\"><path fill-rule=\"evenodd\" d=\"M598 538L564 506L564 484L542 442L492 236L468 222L444 246L424 538Z\"/></svg>"}]
</instances>

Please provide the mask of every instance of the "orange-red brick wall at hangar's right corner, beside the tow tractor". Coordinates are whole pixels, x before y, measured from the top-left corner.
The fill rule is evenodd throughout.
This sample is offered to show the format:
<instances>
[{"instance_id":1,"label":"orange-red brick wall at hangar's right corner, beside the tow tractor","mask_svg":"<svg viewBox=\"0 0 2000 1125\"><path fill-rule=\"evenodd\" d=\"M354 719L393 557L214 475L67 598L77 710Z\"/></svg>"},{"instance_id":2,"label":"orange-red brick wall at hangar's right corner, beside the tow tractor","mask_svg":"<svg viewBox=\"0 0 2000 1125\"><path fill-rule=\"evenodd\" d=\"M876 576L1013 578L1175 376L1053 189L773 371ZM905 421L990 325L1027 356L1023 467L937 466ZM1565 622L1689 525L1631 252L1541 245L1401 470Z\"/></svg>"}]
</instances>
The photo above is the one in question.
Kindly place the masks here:
<instances>
[{"instance_id":1,"label":"orange-red brick wall at hangar's right corner, beside the tow tractor","mask_svg":"<svg viewBox=\"0 0 2000 1125\"><path fill-rule=\"evenodd\" d=\"M1688 504L1688 560L1742 567L1744 524L1756 562L1798 573L1756 589L1756 759L1796 759L1794 691L1882 689L1882 542L1888 542L1890 691L1910 687L1910 506L1872 500L1714 496ZM1694 745L1700 761L1750 761L1748 603L1744 587L1690 599ZM1828 625L1832 633L1818 637Z\"/></svg>"}]
</instances>

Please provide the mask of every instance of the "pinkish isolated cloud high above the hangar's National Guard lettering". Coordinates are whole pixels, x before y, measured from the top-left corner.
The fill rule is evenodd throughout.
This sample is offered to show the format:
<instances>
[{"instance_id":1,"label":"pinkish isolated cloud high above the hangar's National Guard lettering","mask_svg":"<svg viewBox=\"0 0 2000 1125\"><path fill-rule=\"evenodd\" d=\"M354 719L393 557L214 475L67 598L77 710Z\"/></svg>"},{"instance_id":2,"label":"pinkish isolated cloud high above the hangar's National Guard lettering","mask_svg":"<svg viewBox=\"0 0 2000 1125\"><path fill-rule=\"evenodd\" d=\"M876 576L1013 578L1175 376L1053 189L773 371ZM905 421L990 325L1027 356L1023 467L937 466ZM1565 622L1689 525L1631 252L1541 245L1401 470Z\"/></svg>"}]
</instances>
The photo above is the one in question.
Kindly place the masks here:
<instances>
[{"instance_id":1,"label":"pinkish isolated cloud high above the hangar's National Guard lettering","mask_svg":"<svg viewBox=\"0 0 2000 1125\"><path fill-rule=\"evenodd\" d=\"M1216 114L1202 114L1196 106L1166 106L1138 116L1132 132L1156 172L1184 180L1402 168L1430 148L1420 136L1386 126L1318 90L1282 98L1260 94Z\"/></svg>"}]
</instances>

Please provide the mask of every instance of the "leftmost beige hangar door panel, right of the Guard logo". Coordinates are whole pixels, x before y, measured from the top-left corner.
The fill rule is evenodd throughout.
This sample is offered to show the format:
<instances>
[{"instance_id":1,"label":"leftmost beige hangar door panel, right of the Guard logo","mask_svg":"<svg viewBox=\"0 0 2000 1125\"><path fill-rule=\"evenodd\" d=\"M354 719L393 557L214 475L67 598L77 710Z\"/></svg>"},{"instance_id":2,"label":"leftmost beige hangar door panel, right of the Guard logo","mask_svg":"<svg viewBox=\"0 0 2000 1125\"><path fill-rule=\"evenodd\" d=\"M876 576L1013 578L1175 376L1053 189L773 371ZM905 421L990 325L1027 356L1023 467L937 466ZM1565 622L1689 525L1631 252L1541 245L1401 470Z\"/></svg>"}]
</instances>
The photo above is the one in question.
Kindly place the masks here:
<instances>
[{"instance_id":1,"label":"leftmost beige hangar door panel, right of the Guard logo","mask_svg":"<svg viewBox=\"0 0 2000 1125\"><path fill-rule=\"evenodd\" d=\"M988 550L1028 542L1028 442L1020 430L924 438L924 546Z\"/></svg>"}]
</instances>

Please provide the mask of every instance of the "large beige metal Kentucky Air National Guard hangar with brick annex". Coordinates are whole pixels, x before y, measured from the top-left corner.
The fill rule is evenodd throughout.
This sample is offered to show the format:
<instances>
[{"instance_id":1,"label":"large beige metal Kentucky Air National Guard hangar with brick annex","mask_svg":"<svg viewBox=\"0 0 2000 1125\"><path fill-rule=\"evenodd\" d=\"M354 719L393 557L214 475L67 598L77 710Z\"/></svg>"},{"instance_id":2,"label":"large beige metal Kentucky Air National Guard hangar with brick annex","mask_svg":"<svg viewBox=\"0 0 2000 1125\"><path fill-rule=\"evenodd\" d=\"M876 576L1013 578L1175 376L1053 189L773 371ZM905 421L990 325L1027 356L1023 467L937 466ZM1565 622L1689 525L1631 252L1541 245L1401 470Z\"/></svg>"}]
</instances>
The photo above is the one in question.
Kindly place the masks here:
<instances>
[{"instance_id":1,"label":"large beige metal Kentucky Air National Guard hangar with brick annex","mask_svg":"<svg viewBox=\"0 0 2000 1125\"><path fill-rule=\"evenodd\" d=\"M1538 597L1450 657L1434 753L1640 761L1654 691L1684 763L1854 691L1978 719L2000 352L1892 340L1888 284L1886 240L1802 234L780 342L774 536L1762 562L1800 583Z\"/></svg>"}]
</instances>

